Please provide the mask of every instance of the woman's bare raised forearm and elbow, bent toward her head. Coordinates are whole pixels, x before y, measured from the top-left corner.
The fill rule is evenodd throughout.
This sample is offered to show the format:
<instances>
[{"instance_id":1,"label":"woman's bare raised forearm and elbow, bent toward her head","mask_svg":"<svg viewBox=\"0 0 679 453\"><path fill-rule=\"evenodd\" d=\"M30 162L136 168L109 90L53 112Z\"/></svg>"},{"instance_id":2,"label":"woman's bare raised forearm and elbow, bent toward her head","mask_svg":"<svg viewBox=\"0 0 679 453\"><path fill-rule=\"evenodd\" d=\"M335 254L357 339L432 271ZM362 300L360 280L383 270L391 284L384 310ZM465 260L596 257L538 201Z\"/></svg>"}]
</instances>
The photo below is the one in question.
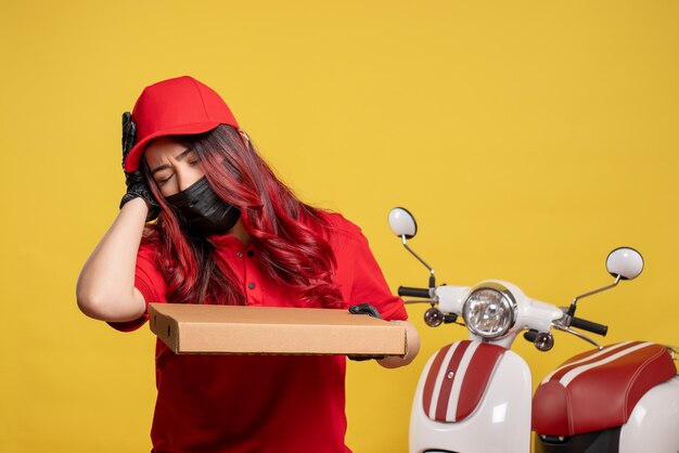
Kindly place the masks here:
<instances>
[{"instance_id":1,"label":"woman's bare raised forearm and elbow, bent toward her head","mask_svg":"<svg viewBox=\"0 0 679 453\"><path fill-rule=\"evenodd\" d=\"M134 268L148 213L142 198L126 203L82 267L76 298L88 316L120 322L145 312L144 298L134 288Z\"/></svg>"}]
</instances>

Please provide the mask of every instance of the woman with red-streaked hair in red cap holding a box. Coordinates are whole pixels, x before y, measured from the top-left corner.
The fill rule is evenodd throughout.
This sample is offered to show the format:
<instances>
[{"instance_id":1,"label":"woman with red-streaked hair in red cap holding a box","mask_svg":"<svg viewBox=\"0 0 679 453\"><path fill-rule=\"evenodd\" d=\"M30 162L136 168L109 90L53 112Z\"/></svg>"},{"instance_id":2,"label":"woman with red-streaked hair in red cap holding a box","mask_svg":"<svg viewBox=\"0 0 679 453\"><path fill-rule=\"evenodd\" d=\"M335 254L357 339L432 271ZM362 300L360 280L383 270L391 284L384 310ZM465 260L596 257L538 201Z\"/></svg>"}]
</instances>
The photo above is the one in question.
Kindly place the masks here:
<instances>
[{"instance_id":1,"label":"woman with red-streaked hair in red cap holding a box","mask_svg":"<svg viewBox=\"0 0 679 453\"><path fill-rule=\"evenodd\" d=\"M149 302L370 303L408 335L407 357L377 362L413 360L417 331L360 230L298 200L215 91L191 77L148 87L124 115L123 148L128 191L80 273L85 314L132 331ZM176 355L158 341L154 452L348 451L345 367L334 355Z\"/></svg>"}]
</instances>

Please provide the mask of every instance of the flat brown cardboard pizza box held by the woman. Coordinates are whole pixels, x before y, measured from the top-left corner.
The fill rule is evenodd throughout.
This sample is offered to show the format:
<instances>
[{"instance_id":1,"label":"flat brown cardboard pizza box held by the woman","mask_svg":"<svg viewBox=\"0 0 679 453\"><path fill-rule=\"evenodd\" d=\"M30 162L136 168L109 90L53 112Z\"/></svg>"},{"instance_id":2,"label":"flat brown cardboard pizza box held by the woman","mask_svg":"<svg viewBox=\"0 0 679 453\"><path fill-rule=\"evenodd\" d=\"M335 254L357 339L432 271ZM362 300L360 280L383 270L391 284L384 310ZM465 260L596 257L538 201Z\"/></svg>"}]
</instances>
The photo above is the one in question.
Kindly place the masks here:
<instances>
[{"instance_id":1,"label":"flat brown cardboard pizza box held by the woman","mask_svg":"<svg viewBox=\"0 0 679 453\"><path fill-rule=\"evenodd\" d=\"M151 331L176 353L403 355L406 327L346 310L149 305Z\"/></svg>"}]
</instances>

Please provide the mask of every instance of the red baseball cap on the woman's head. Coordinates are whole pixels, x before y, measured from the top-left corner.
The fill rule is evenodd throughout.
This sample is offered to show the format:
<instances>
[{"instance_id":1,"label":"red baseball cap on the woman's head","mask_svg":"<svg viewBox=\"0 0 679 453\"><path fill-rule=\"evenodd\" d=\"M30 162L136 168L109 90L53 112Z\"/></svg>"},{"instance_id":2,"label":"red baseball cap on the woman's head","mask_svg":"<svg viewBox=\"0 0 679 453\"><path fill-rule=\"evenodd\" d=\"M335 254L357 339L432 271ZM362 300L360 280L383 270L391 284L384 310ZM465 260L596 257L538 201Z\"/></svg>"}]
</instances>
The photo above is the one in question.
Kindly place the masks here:
<instances>
[{"instance_id":1,"label":"red baseball cap on the woman's head","mask_svg":"<svg viewBox=\"0 0 679 453\"><path fill-rule=\"evenodd\" d=\"M153 139L207 132L219 125L239 128L229 106L212 88L193 77L177 77L146 87L134 104L132 121L137 142L125 159L125 171L134 171Z\"/></svg>"}]
</instances>

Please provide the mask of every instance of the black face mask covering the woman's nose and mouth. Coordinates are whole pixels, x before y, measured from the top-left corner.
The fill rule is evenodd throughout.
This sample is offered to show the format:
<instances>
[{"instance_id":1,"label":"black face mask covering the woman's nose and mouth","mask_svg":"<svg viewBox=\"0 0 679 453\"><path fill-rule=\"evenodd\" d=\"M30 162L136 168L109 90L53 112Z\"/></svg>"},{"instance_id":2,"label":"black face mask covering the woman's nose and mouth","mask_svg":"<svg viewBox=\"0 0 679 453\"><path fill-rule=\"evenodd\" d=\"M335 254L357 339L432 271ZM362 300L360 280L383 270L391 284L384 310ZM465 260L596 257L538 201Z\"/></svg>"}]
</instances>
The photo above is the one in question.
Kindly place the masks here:
<instances>
[{"instance_id":1,"label":"black face mask covering the woman's nose and mouth","mask_svg":"<svg viewBox=\"0 0 679 453\"><path fill-rule=\"evenodd\" d=\"M241 210L219 198L205 177L165 199L179 209L191 230L205 236L226 233L241 217Z\"/></svg>"}]
</instances>

